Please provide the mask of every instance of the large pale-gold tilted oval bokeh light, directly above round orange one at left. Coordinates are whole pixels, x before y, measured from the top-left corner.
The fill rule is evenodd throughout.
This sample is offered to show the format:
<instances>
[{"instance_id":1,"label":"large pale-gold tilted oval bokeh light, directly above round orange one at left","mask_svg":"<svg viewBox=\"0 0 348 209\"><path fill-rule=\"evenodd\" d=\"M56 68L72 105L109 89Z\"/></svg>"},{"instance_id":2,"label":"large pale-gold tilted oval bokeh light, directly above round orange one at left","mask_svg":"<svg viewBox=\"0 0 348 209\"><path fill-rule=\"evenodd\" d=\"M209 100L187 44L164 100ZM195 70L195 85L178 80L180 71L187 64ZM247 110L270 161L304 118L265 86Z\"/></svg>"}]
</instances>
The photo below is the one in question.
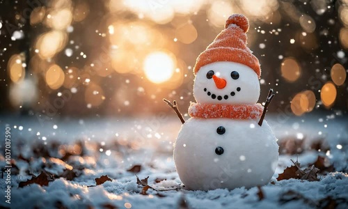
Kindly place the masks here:
<instances>
[{"instance_id":1,"label":"large pale-gold tilted oval bokeh light, directly above round orange one at left","mask_svg":"<svg viewBox=\"0 0 348 209\"><path fill-rule=\"evenodd\" d=\"M41 59L50 59L56 53L61 52L67 40L68 36L65 32L49 31L38 38L35 47L38 49Z\"/></svg>"}]
</instances>

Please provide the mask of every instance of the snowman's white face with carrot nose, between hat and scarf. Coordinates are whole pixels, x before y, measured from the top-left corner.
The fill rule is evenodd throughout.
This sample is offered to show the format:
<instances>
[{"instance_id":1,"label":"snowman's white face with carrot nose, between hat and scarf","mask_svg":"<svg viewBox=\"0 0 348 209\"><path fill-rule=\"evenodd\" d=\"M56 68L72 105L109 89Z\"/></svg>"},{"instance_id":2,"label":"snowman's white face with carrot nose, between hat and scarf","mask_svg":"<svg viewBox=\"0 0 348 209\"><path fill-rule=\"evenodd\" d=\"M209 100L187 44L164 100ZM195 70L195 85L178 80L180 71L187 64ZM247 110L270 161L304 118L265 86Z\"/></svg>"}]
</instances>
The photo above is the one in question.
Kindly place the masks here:
<instances>
[{"instance_id":1,"label":"snowman's white face with carrot nose, between hat and scarf","mask_svg":"<svg viewBox=\"0 0 348 209\"><path fill-rule=\"evenodd\" d=\"M197 72L193 95L198 103L255 104L260 96L258 75L241 63L209 63Z\"/></svg>"}]
</instances>

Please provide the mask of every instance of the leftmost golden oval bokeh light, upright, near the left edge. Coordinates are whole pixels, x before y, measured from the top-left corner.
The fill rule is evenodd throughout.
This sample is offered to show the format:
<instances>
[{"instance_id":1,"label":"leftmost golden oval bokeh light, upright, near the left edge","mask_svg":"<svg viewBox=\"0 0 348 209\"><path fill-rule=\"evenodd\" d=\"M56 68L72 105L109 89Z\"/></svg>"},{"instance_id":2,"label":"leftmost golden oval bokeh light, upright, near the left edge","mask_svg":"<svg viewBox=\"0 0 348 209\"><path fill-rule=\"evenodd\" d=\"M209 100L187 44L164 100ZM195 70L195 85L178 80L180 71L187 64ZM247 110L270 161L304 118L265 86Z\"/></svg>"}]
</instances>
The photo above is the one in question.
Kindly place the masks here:
<instances>
[{"instance_id":1,"label":"leftmost golden oval bokeh light, upright, near the left edge","mask_svg":"<svg viewBox=\"0 0 348 209\"><path fill-rule=\"evenodd\" d=\"M13 54L8 61L7 70L12 82L17 83L22 81L25 75L22 56L19 54Z\"/></svg>"}]
</instances>

